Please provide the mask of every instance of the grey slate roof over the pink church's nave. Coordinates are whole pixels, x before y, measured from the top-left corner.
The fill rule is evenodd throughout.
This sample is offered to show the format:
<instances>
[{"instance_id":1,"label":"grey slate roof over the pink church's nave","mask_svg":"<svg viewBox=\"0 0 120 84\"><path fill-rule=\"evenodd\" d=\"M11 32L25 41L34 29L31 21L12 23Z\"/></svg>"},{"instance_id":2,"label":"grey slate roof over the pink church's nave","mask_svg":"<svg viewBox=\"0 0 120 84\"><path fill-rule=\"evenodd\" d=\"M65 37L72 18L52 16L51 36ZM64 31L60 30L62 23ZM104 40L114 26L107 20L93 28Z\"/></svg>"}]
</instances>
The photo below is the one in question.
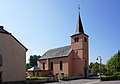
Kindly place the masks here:
<instances>
[{"instance_id":1,"label":"grey slate roof over the pink church's nave","mask_svg":"<svg viewBox=\"0 0 120 84\"><path fill-rule=\"evenodd\" d=\"M48 59L48 58L57 58L57 57L65 57L68 56L71 52L71 46L64 46L55 49L50 49L40 59Z\"/></svg>"}]
</instances>

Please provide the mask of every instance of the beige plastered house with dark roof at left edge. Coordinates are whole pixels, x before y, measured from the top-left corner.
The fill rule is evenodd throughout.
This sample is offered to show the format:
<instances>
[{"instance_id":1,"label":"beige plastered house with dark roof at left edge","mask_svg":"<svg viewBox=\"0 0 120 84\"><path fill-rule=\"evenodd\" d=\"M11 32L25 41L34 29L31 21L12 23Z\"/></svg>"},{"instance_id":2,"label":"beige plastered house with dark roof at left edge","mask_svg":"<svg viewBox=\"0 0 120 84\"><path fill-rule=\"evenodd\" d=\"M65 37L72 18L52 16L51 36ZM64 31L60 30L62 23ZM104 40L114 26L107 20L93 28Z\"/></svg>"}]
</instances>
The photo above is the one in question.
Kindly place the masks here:
<instances>
[{"instance_id":1,"label":"beige plastered house with dark roof at left edge","mask_svg":"<svg viewBox=\"0 0 120 84\"><path fill-rule=\"evenodd\" d=\"M0 84L26 80L26 51L23 44L0 26Z\"/></svg>"}]
</instances>

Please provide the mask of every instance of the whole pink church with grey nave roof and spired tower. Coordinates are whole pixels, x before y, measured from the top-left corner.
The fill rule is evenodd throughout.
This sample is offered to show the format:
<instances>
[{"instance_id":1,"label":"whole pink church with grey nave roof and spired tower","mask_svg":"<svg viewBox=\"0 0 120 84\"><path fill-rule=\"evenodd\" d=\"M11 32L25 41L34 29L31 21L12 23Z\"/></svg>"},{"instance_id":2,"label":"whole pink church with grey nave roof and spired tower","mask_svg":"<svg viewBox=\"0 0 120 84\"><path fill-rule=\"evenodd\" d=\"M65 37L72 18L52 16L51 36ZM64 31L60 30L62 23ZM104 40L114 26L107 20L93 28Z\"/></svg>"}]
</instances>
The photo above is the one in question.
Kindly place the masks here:
<instances>
[{"instance_id":1,"label":"whole pink church with grey nave roof and spired tower","mask_svg":"<svg viewBox=\"0 0 120 84\"><path fill-rule=\"evenodd\" d=\"M71 44L50 49L37 61L38 67L51 75L88 77L88 35L84 32L80 13L76 32L70 36Z\"/></svg>"}]
</instances>

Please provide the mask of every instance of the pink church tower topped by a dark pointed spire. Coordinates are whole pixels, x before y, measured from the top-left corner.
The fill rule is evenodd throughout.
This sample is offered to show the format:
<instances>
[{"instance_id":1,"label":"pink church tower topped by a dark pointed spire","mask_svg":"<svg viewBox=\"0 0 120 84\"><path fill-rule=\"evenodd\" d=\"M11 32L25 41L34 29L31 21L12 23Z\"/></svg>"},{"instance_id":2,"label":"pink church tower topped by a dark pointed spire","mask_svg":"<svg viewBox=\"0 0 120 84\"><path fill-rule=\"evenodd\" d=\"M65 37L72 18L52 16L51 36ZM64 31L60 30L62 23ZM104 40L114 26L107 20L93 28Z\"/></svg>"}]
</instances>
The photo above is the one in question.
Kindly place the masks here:
<instances>
[{"instance_id":1,"label":"pink church tower topped by a dark pointed spire","mask_svg":"<svg viewBox=\"0 0 120 84\"><path fill-rule=\"evenodd\" d=\"M82 61L81 66L83 68L83 76L87 77L88 76L88 35L84 33L81 17L80 17L80 12L78 15L78 23L76 25L76 32L71 36L71 48L75 52L75 58L74 60L75 63L79 63L79 61ZM79 60L77 60L79 59ZM84 63L83 63L84 62ZM74 63L74 64L75 64ZM77 66L76 64L74 66ZM80 69L80 70L81 70ZM79 69L77 69L79 70Z\"/></svg>"}]
</instances>

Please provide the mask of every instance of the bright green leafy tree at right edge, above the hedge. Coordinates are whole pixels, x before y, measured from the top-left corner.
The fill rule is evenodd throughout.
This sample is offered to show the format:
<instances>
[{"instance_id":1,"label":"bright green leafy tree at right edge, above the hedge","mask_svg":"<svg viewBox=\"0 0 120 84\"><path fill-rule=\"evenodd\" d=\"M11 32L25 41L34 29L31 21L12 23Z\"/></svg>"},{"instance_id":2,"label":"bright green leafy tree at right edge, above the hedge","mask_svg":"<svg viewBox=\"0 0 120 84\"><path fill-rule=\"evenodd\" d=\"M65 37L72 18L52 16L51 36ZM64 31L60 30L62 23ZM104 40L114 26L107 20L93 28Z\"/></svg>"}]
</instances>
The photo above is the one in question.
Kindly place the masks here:
<instances>
[{"instance_id":1,"label":"bright green leafy tree at right edge, above the hedge","mask_svg":"<svg viewBox=\"0 0 120 84\"><path fill-rule=\"evenodd\" d=\"M109 72L120 72L120 51L108 60L107 69Z\"/></svg>"}]
</instances>

